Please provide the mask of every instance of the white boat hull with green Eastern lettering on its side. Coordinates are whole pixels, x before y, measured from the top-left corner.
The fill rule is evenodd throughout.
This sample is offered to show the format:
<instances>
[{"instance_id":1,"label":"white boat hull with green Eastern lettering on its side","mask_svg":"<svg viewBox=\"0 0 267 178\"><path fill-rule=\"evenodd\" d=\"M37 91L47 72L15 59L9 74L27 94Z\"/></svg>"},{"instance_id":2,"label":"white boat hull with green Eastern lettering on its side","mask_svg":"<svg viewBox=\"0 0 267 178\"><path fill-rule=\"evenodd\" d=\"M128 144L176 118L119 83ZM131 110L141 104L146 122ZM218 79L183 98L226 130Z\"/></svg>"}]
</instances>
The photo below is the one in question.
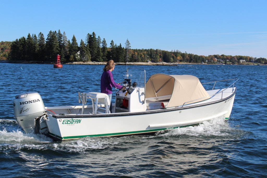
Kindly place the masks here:
<instances>
[{"instance_id":1,"label":"white boat hull with green Eastern lettering on its side","mask_svg":"<svg viewBox=\"0 0 267 178\"><path fill-rule=\"evenodd\" d=\"M228 119L234 97L235 92L217 102L141 113L49 115L46 125L49 128L49 136L55 140L149 134L171 128L195 126L221 116Z\"/></svg>"}]
</instances>

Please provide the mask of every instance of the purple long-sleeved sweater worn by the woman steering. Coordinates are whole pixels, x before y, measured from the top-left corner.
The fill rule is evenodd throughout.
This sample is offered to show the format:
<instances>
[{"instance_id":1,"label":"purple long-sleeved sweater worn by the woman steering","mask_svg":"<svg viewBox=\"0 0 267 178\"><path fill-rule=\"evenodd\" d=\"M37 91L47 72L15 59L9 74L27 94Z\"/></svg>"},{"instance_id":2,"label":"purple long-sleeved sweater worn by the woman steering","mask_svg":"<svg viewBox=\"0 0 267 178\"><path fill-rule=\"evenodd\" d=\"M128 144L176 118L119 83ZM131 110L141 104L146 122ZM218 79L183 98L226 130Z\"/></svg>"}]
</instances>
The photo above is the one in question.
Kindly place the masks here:
<instances>
[{"instance_id":1,"label":"purple long-sleeved sweater worn by the woman steering","mask_svg":"<svg viewBox=\"0 0 267 178\"><path fill-rule=\"evenodd\" d=\"M100 88L101 93L112 94L112 87L121 89L122 86L114 82L111 71L105 71L102 73Z\"/></svg>"}]
</instances>

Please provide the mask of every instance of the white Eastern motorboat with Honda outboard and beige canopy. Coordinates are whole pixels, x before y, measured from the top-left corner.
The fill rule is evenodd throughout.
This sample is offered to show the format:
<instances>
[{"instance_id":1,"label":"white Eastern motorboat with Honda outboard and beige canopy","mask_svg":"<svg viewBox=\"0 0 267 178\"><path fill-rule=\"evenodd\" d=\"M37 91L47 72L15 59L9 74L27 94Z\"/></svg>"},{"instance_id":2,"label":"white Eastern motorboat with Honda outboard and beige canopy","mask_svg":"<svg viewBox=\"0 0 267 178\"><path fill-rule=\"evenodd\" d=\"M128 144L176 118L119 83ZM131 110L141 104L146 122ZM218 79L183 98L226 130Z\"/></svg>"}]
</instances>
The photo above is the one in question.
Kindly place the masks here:
<instances>
[{"instance_id":1,"label":"white Eastern motorboat with Honda outboard and beige canopy","mask_svg":"<svg viewBox=\"0 0 267 178\"><path fill-rule=\"evenodd\" d=\"M25 133L44 134L55 141L151 135L197 126L217 117L228 119L237 80L202 84L192 75L157 73L146 81L144 69L128 68L120 83L125 90L115 88L112 113L107 108L108 96L99 92L77 92L76 106L44 106L39 93L25 92L13 100L14 117ZM218 83L222 86L224 82L226 87L216 89Z\"/></svg>"}]
</instances>

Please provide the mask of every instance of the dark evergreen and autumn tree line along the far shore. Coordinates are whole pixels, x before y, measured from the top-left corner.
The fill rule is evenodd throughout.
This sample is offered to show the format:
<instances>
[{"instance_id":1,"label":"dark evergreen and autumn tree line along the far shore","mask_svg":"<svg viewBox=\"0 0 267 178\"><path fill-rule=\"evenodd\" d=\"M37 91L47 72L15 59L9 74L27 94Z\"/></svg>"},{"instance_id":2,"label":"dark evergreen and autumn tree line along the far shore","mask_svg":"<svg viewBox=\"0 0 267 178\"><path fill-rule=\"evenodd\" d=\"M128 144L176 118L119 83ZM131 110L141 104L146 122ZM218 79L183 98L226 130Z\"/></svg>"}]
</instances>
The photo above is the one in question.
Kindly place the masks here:
<instances>
[{"instance_id":1,"label":"dark evergreen and autumn tree line along the far shore","mask_svg":"<svg viewBox=\"0 0 267 178\"><path fill-rule=\"evenodd\" d=\"M43 61L51 62L56 60L57 55L61 55L61 62L105 62L110 59L118 62L188 62L188 63L241 63L257 62L267 64L265 58L250 56L227 56L209 55L199 56L179 50L164 51L160 49L131 49L131 44L127 39L124 46L115 44L111 40L108 47L105 38L96 37L95 32L88 33L85 41L81 40L78 45L76 37L73 35L71 41L67 39L65 32L60 30L51 31L47 37L43 33L21 37L13 42L6 42L10 45L10 51L6 47L2 57L17 61ZM2 42L1 42L2 45ZM1 47L1 46L0 46ZM2 51L2 48L1 48ZM1 57L1 56L0 56Z\"/></svg>"}]
</instances>

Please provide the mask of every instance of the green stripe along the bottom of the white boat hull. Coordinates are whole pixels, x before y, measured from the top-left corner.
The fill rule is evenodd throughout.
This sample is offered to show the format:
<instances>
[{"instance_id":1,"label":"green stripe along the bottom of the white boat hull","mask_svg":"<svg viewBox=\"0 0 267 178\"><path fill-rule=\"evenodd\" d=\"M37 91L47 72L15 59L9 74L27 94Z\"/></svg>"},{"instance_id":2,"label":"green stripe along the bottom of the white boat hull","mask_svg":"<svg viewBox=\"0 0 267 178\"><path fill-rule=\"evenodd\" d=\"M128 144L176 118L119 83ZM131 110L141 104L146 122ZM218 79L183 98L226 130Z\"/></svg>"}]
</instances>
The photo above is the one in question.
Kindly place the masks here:
<instances>
[{"instance_id":1,"label":"green stripe along the bottom of the white boat hull","mask_svg":"<svg viewBox=\"0 0 267 178\"><path fill-rule=\"evenodd\" d=\"M197 126L199 124L193 124L193 125L187 125L187 126L181 126L182 127L189 127L189 126ZM108 133L108 134L96 134L96 135L83 135L83 136L68 136L68 137L60 137L56 134L50 133L49 135L59 138L61 140L70 140L70 139L78 139L83 137L106 137L106 136L124 136L124 135L131 135L131 134L142 134L142 133L150 133L150 132L158 132L163 131L167 129L176 129L178 127L170 127L170 128L164 128L164 129L152 129L152 130L141 130L141 131L131 131L131 132L120 132L120 133Z\"/></svg>"}]
</instances>

